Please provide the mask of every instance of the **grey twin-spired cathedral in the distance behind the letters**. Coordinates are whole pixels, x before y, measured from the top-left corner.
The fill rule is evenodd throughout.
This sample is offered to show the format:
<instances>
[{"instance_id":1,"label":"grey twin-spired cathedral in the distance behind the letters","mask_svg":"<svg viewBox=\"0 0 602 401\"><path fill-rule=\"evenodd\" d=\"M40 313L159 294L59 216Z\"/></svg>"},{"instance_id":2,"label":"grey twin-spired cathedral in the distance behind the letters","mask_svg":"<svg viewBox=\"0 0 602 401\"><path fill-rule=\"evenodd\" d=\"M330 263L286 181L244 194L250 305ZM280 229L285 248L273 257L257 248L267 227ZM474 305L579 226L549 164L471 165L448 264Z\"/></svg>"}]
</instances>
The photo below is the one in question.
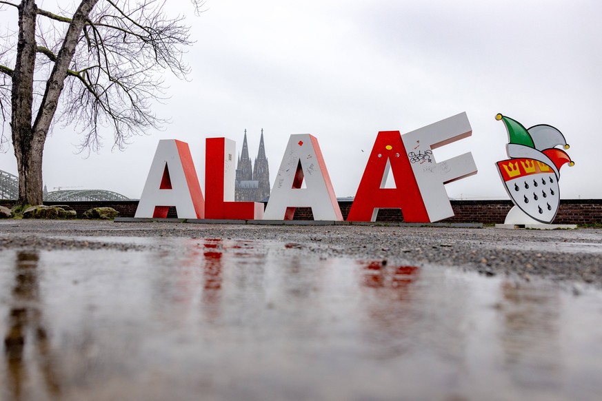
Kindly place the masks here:
<instances>
[{"instance_id":1,"label":"grey twin-spired cathedral in the distance behind the letters","mask_svg":"<svg viewBox=\"0 0 602 401\"><path fill-rule=\"evenodd\" d=\"M245 130L243 150L237 163L234 198L237 202L261 202L268 196L270 196L270 169L268 158L265 157L265 147L263 146L263 128L261 129L259 152L257 152L254 165L249 157L247 130Z\"/></svg>"}]
</instances>

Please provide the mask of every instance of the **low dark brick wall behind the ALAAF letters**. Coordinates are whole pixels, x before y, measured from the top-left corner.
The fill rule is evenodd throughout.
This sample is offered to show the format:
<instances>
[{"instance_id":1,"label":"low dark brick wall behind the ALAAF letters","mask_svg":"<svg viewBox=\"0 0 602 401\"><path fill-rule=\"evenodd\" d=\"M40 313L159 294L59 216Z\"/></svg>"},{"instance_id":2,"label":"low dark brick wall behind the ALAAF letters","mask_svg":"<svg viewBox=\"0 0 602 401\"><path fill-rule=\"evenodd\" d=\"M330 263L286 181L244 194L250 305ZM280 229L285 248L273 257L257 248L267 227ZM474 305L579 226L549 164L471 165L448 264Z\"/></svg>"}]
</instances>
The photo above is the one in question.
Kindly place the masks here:
<instances>
[{"instance_id":1,"label":"low dark brick wall behind the ALAAF letters","mask_svg":"<svg viewBox=\"0 0 602 401\"><path fill-rule=\"evenodd\" d=\"M512 207L511 200L452 200L452 209L455 216L443 220L444 223L503 223ZM137 200L105 201L105 202L46 202L46 205L68 205L72 207L77 216L82 216L92 207L112 207L122 217L133 217L138 207ZM341 214L347 218L351 202L341 201ZM12 207L14 200L0 200L0 205ZM170 208L168 217L177 217L174 207ZM310 207L297 207L294 220L312 220ZM380 209L377 221L402 222L403 215L400 209ZM602 199L565 199L561 200L558 214L554 220L556 224L592 224L602 223Z\"/></svg>"}]
</instances>

